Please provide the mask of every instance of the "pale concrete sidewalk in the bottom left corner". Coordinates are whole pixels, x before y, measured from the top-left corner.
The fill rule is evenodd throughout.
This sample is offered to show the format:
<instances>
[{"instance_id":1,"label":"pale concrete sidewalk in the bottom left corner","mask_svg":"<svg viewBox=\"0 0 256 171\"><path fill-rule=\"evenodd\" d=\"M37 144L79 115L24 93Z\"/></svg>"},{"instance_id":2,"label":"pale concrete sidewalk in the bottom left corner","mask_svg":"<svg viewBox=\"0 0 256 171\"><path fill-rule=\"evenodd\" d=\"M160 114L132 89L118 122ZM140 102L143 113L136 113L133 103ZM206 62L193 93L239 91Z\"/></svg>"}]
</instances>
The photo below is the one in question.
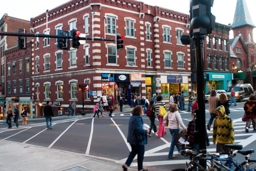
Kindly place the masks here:
<instances>
[{"instance_id":1,"label":"pale concrete sidewalk in the bottom left corner","mask_svg":"<svg viewBox=\"0 0 256 171\"><path fill-rule=\"evenodd\" d=\"M1 171L121 171L122 165L85 154L44 148L41 146L0 141ZM129 168L129 170L137 170Z\"/></svg>"}]
</instances>

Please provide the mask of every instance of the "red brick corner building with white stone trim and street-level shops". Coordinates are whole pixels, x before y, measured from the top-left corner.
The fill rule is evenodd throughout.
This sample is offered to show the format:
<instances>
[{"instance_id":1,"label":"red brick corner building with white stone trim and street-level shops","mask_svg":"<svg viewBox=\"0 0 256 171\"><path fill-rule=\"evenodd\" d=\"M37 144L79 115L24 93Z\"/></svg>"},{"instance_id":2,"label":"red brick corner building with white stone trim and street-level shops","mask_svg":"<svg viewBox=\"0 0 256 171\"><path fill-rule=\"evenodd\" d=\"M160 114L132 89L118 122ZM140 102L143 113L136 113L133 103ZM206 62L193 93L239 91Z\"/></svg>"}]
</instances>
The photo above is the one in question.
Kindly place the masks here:
<instances>
[{"instance_id":1,"label":"red brick corner building with white stone trim and street-level shops","mask_svg":"<svg viewBox=\"0 0 256 171\"><path fill-rule=\"evenodd\" d=\"M85 109L92 110L100 97L111 94L118 101L133 105L134 95L162 94L166 101L172 92L191 91L190 46L180 36L189 34L187 14L150 6L137 1L70 1L31 18L31 27L39 34L57 34L57 30L81 31L81 36L115 39L124 36L124 48L113 42L80 41L78 49L58 50L54 38L32 40L33 112L43 115L45 101L57 104L54 113L65 112L74 99L82 108L82 92L77 84L89 84L97 96L85 95ZM46 17L48 18L46 29ZM71 44L71 42L70 42ZM156 84L156 78L161 84ZM63 113L62 112L62 113Z\"/></svg>"}]
</instances>

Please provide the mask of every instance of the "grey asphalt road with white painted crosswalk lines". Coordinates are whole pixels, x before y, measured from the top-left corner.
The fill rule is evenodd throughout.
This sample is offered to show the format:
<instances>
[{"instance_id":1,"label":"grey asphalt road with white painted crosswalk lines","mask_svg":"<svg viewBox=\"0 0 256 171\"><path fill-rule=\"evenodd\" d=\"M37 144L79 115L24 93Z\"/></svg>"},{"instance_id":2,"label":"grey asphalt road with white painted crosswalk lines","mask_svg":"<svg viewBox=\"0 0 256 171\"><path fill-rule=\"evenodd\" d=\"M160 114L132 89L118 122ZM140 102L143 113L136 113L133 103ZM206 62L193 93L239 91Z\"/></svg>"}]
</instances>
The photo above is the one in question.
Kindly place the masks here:
<instances>
[{"instance_id":1,"label":"grey asphalt road with white painted crosswalk lines","mask_svg":"<svg viewBox=\"0 0 256 171\"><path fill-rule=\"evenodd\" d=\"M233 119L235 127L235 142L242 144L244 149L253 149L256 146L256 131L245 133L245 123L242 122L244 102L237 103L237 106L230 107L230 117ZM207 112L209 104L206 103L206 124L210 118ZM188 125L191 120L191 113L180 111L183 123ZM99 159L123 164L129 155L130 145L126 143L127 128L130 113L117 114L113 118L53 118L53 129L47 130L44 119L29 120L27 126L8 129L7 124L0 122L0 140L14 141L25 144L34 144L46 148L66 150L76 153L87 154ZM144 123L150 125L147 116L142 116ZM21 120L19 120L21 123ZM158 125L158 121L156 121ZM171 170L175 168L184 168L187 159L174 150L175 158L168 159L167 155L170 148L171 134L168 128L165 128L167 134L158 139L151 133L152 137L148 138L148 144L145 145L145 168L149 170ZM212 131L208 131L211 136ZM1 149L1 148L0 148ZM211 143L207 146L207 151L215 151L215 145ZM256 158L256 153L250 156ZM244 161L242 154L237 154L236 160ZM137 160L134 159L132 167L137 168Z\"/></svg>"}]
</instances>

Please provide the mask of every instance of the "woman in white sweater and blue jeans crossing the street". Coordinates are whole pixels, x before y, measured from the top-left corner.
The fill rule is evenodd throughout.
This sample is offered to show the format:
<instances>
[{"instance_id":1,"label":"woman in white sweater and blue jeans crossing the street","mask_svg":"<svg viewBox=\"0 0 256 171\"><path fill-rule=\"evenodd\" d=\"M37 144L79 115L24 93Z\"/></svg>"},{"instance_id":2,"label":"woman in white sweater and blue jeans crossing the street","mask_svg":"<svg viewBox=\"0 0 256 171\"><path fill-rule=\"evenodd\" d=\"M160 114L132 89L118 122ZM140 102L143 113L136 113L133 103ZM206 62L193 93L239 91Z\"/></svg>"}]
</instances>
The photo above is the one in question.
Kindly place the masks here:
<instances>
[{"instance_id":1,"label":"woman in white sweater and blue jeans crossing the street","mask_svg":"<svg viewBox=\"0 0 256 171\"><path fill-rule=\"evenodd\" d=\"M178 112L177 104L170 105L170 111L166 113L163 119L166 120L167 118L169 119L168 128L172 135L172 142L171 142L168 158L172 159L176 157L175 155L173 155L173 151L175 147L175 135L179 134L180 126L185 130L185 132L187 132L187 127L182 122L180 113ZM176 145L176 148L178 149L179 152L181 151L180 145Z\"/></svg>"}]
</instances>

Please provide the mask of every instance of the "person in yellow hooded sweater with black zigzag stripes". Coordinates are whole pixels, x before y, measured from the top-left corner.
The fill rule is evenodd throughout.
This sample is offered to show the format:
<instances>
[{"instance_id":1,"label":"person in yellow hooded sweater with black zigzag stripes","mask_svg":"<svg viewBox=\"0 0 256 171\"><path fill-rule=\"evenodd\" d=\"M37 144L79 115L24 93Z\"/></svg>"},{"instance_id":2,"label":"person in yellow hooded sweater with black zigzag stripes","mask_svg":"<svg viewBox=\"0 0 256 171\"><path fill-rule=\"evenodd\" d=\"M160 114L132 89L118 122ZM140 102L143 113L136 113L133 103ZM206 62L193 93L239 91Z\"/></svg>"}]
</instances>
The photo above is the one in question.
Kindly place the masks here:
<instances>
[{"instance_id":1,"label":"person in yellow hooded sweater with black zigzag stripes","mask_svg":"<svg viewBox=\"0 0 256 171\"><path fill-rule=\"evenodd\" d=\"M230 148L224 147L225 144L235 144L235 131L231 118L226 115L225 107L219 106L215 113L218 117L213 123L212 142L216 145L216 152L230 152Z\"/></svg>"}]
</instances>

